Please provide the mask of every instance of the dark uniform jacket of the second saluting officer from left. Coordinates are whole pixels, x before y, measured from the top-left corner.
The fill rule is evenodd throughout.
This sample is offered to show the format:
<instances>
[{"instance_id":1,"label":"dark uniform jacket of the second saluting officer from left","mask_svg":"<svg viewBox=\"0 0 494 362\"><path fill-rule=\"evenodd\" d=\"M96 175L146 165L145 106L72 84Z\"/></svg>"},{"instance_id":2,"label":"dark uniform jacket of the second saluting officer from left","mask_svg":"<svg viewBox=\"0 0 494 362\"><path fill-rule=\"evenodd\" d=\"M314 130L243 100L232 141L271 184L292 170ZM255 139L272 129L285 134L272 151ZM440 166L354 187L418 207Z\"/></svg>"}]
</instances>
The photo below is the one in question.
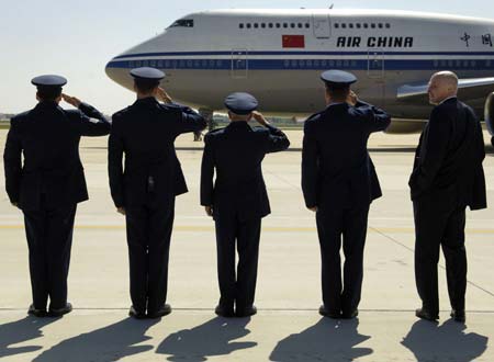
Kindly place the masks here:
<instances>
[{"instance_id":1,"label":"dark uniform jacket of the second saluting officer from left","mask_svg":"<svg viewBox=\"0 0 494 362\"><path fill-rule=\"evenodd\" d=\"M173 142L182 133L205 126L204 118L191 109L161 104L153 97L116 112L108 146L110 189L115 206L162 204L186 193L186 179Z\"/></svg>"}]
</instances>

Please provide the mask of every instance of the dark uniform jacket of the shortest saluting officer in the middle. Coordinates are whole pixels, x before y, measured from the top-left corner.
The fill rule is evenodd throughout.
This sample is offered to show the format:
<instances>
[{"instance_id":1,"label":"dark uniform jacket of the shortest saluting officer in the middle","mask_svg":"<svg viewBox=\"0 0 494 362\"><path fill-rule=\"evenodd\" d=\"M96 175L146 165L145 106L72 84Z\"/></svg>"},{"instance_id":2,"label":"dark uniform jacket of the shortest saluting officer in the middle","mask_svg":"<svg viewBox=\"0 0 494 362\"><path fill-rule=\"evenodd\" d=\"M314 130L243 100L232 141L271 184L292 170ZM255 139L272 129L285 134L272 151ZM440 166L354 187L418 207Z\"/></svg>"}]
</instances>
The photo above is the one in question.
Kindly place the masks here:
<instances>
[{"instance_id":1,"label":"dark uniform jacket of the shortest saluting officer in the middle","mask_svg":"<svg viewBox=\"0 0 494 362\"><path fill-rule=\"evenodd\" d=\"M215 220L222 215L238 215L240 220L268 215L271 210L261 162L266 154L290 146L284 133L271 125L251 128L247 122L232 122L206 134L204 143L201 205L213 206Z\"/></svg>"}]
</instances>

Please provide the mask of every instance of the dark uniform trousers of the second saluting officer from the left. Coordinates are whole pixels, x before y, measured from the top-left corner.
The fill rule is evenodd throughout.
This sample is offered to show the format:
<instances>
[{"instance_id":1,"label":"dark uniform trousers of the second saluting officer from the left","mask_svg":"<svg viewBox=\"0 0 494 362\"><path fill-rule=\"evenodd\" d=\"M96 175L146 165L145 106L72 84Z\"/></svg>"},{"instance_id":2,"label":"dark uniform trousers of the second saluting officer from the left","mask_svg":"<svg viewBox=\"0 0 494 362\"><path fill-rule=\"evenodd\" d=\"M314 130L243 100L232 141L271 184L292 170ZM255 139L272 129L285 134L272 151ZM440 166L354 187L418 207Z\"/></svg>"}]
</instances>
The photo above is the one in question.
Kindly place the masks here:
<instances>
[{"instance_id":1,"label":"dark uniform trousers of the second saluting officer from the left","mask_svg":"<svg viewBox=\"0 0 494 362\"><path fill-rule=\"evenodd\" d=\"M157 312L167 299L168 257L175 200L125 207L131 299L138 313Z\"/></svg>"}]
</instances>

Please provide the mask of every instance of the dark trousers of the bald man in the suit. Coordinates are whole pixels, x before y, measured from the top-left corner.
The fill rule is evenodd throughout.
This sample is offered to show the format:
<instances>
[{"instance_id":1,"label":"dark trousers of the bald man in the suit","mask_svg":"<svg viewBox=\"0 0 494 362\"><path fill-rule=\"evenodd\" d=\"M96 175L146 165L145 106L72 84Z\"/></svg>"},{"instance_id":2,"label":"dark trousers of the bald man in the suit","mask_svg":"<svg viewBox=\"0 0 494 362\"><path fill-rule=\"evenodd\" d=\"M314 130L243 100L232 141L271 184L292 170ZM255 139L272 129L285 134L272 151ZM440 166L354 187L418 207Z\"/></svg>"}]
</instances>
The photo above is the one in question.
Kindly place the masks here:
<instances>
[{"instance_id":1,"label":"dark trousers of the bald man in the suit","mask_svg":"<svg viewBox=\"0 0 494 362\"><path fill-rule=\"evenodd\" d=\"M439 312L437 263L439 250L446 260L451 307L464 310L467 251L464 248L465 207L444 207L420 199L414 202L415 281L423 307Z\"/></svg>"}]
</instances>

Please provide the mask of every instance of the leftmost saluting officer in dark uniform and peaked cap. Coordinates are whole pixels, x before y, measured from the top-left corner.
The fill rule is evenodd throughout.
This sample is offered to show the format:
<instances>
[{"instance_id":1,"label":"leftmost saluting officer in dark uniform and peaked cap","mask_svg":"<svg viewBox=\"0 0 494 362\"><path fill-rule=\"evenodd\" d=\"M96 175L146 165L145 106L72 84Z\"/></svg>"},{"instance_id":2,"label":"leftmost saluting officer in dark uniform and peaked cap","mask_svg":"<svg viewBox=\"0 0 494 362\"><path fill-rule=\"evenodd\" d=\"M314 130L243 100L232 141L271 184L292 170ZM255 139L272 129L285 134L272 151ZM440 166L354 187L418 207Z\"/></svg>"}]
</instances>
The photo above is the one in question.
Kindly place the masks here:
<instances>
[{"instance_id":1,"label":"leftmost saluting officer in dark uniform and peaked cap","mask_svg":"<svg viewBox=\"0 0 494 362\"><path fill-rule=\"evenodd\" d=\"M61 93L67 80L40 76L37 105L14 116L3 154L5 188L12 205L22 210L30 250L33 304L29 314L61 316L67 303L67 275L77 203L88 200L81 136L103 136L110 123L89 104ZM61 100L78 108L64 110ZM24 155L24 162L22 162Z\"/></svg>"}]
</instances>

